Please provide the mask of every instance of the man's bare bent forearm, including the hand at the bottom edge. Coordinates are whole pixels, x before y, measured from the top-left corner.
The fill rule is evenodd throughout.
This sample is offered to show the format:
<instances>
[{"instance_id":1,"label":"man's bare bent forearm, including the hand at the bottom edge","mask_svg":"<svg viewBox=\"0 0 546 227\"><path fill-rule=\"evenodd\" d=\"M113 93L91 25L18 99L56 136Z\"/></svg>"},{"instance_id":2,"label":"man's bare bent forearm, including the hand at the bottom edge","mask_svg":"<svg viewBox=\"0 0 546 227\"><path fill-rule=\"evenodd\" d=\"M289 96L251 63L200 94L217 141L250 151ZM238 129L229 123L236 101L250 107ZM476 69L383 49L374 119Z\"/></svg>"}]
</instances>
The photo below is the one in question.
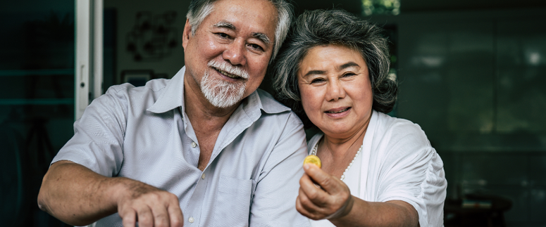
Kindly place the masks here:
<instances>
[{"instance_id":1,"label":"man's bare bent forearm, including the hand at the bottom edge","mask_svg":"<svg viewBox=\"0 0 546 227\"><path fill-rule=\"evenodd\" d=\"M38 206L70 225L85 226L118 212L123 226L182 226L178 198L124 177L106 177L80 164L51 164L39 190Z\"/></svg>"}]
</instances>

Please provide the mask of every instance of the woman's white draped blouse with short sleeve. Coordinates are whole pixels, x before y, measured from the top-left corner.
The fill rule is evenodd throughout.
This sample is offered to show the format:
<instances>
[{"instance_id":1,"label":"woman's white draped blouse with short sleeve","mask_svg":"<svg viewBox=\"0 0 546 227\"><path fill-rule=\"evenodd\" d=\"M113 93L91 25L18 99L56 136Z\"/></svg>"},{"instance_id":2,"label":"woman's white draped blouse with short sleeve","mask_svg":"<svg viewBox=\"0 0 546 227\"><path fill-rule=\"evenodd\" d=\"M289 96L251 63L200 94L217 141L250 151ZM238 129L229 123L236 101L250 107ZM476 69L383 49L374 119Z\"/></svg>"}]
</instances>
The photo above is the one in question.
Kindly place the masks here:
<instances>
[{"instance_id":1,"label":"woman's white draped blouse with short sleeve","mask_svg":"<svg viewBox=\"0 0 546 227\"><path fill-rule=\"evenodd\" d=\"M309 152L322 136L311 138ZM421 127L373 110L363 144L344 180L351 194L369 202L408 202L417 210L421 226L443 226L447 187L443 162ZM311 226L334 225L311 220Z\"/></svg>"}]
</instances>

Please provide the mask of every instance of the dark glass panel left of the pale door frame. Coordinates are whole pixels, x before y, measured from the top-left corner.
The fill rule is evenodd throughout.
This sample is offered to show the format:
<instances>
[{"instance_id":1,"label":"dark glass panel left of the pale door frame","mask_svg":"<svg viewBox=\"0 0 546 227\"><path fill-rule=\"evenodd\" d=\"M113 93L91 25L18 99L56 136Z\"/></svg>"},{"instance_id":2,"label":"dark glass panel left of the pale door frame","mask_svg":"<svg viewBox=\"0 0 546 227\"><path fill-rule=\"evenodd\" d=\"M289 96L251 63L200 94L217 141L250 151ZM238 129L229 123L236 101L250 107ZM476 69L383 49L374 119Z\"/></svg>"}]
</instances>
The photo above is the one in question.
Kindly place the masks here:
<instances>
[{"instance_id":1,"label":"dark glass panel left of the pale door frame","mask_svg":"<svg viewBox=\"0 0 546 227\"><path fill-rule=\"evenodd\" d=\"M10 1L0 27L0 223L65 226L36 200L49 162L73 135L74 1Z\"/></svg>"}]
</instances>

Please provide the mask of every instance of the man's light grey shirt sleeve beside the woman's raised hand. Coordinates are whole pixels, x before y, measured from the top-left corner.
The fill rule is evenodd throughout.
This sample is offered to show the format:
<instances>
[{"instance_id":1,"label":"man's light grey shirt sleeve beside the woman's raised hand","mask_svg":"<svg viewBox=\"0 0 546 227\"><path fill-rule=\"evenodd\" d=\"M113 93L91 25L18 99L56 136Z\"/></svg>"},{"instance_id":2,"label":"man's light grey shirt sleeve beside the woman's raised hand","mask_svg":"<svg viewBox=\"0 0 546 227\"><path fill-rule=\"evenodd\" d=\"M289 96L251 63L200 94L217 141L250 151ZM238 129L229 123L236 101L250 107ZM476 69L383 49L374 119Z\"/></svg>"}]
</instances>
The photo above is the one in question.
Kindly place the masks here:
<instances>
[{"instance_id":1,"label":"man's light grey shirt sleeve beside the woman's raised hand","mask_svg":"<svg viewBox=\"0 0 546 227\"><path fill-rule=\"evenodd\" d=\"M309 219L296 210L305 156L303 124L290 112L283 134L268 157L256 184L250 226L310 226Z\"/></svg>"}]
</instances>

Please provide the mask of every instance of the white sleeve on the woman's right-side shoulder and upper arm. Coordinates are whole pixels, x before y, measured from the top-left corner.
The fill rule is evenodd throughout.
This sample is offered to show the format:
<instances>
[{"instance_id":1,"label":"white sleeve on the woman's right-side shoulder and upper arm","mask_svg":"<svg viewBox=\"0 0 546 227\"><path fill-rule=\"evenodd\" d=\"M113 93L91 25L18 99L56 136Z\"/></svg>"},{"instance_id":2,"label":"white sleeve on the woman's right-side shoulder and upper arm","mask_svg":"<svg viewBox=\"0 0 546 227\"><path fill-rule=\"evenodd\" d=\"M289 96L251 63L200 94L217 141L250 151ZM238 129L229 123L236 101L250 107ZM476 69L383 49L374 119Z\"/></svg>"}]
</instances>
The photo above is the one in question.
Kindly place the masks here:
<instances>
[{"instance_id":1,"label":"white sleeve on the woman's right-side shoulder and upper arm","mask_svg":"<svg viewBox=\"0 0 546 227\"><path fill-rule=\"evenodd\" d=\"M378 201L402 200L418 212L421 226L443 226L447 181L443 163L415 124L387 134L378 176Z\"/></svg>"}]
</instances>

